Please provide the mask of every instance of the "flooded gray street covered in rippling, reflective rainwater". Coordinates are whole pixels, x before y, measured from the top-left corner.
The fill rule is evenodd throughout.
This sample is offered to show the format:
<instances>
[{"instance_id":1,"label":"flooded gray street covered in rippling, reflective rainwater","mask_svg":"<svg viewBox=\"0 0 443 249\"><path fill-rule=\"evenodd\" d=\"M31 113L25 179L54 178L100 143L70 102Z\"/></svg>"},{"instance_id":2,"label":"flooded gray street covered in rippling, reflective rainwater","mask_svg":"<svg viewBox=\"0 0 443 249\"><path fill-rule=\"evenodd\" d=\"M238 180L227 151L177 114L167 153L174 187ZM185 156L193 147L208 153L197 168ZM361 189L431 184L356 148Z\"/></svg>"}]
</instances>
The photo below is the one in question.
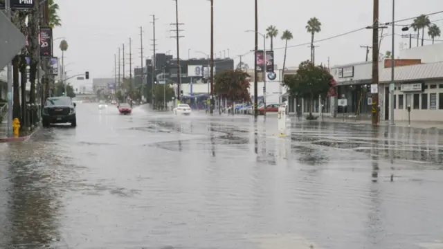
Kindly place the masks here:
<instances>
[{"instance_id":1,"label":"flooded gray street covered in rippling, reflective rainwater","mask_svg":"<svg viewBox=\"0 0 443 249\"><path fill-rule=\"evenodd\" d=\"M0 145L0 248L443 248L443 131L77 109Z\"/></svg>"}]
</instances>

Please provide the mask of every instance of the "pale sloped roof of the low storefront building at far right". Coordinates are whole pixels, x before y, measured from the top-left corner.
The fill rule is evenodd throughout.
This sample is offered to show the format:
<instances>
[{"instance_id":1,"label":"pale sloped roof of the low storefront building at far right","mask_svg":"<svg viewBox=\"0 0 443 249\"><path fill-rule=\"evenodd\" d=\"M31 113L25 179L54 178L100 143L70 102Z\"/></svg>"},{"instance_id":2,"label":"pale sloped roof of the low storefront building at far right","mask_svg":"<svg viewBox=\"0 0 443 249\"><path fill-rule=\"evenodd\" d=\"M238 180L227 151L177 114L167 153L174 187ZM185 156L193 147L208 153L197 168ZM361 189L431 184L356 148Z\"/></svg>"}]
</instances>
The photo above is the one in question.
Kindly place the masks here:
<instances>
[{"instance_id":1,"label":"pale sloped roof of the low storefront building at far right","mask_svg":"<svg viewBox=\"0 0 443 249\"><path fill-rule=\"evenodd\" d=\"M398 66L394 76L396 82L443 79L443 62ZM383 68L379 81L391 81L391 68Z\"/></svg>"}]
</instances>

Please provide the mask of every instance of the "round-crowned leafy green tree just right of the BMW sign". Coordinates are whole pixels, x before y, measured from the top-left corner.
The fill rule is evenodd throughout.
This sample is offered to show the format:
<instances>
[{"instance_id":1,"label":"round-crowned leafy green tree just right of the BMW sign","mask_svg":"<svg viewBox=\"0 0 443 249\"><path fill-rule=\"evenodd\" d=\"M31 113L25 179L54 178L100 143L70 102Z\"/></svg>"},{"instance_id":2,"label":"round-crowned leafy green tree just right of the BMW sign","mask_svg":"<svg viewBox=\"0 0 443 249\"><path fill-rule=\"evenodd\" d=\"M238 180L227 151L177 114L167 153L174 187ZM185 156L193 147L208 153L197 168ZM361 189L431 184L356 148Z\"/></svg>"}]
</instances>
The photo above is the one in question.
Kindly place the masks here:
<instances>
[{"instance_id":1,"label":"round-crowned leafy green tree just right of the BMW sign","mask_svg":"<svg viewBox=\"0 0 443 249\"><path fill-rule=\"evenodd\" d=\"M334 77L328 68L305 61L300 63L295 75L289 75L284 79L283 84L287 86L291 95L310 100L309 116L312 116L314 96L319 96L322 100L326 98L330 93L332 82Z\"/></svg>"}]
</instances>

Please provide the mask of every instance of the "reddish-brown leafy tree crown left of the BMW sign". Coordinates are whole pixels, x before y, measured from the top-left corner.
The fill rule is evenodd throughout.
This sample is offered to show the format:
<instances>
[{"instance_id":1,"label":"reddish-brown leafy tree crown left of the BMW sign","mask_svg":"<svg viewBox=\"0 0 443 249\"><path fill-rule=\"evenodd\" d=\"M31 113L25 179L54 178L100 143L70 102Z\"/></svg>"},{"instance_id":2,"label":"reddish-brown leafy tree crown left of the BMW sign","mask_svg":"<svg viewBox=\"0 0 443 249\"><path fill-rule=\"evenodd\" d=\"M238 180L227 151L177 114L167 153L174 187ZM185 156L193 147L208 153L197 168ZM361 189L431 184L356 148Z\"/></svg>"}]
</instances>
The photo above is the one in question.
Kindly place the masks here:
<instances>
[{"instance_id":1,"label":"reddish-brown leafy tree crown left of the BMW sign","mask_svg":"<svg viewBox=\"0 0 443 249\"><path fill-rule=\"evenodd\" d=\"M248 73L240 70L228 70L215 75L214 93L219 98L226 98L235 102L249 102Z\"/></svg>"}]
</instances>

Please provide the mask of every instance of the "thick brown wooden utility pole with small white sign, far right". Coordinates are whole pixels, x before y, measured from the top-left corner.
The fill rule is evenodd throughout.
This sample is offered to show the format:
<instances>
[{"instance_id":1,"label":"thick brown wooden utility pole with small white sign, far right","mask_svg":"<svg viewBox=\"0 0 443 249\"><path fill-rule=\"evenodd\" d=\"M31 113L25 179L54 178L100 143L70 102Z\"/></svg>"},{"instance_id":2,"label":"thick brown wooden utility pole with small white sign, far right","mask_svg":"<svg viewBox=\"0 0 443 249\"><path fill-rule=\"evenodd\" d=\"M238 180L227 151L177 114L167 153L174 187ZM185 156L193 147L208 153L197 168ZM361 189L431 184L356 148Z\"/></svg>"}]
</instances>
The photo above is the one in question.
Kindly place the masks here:
<instances>
[{"instance_id":1,"label":"thick brown wooden utility pole with small white sign, far right","mask_svg":"<svg viewBox=\"0 0 443 249\"><path fill-rule=\"evenodd\" d=\"M379 0L374 0L372 17L372 84L377 91L372 93L372 125L379 124ZM372 89L372 87L371 87Z\"/></svg>"}]
</instances>

